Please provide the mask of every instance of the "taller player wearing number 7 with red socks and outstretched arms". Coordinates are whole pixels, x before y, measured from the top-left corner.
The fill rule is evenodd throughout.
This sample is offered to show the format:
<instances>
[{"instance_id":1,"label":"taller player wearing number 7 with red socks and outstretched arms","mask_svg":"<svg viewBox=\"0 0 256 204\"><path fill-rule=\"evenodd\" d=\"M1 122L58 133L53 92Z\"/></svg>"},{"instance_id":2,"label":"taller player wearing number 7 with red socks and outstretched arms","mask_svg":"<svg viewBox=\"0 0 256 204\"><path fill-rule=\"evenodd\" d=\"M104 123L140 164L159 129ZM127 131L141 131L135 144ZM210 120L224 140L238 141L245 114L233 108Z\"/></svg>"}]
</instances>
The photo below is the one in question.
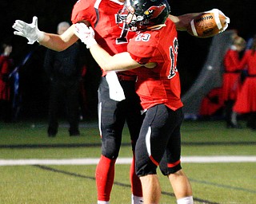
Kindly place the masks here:
<instances>
[{"instance_id":1,"label":"taller player wearing number 7 with red socks and outstretched arms","mask_svg":"<svg viewBox=\"0 0 256 204\"><path fill-rule=\"evenodd\" d=\"M125 1L79 0L74 5L74 10L72 12L72 22L84 22L87 26L94 27L95 38L98 41L99 45L101 45L111 54L126 52L127 42L129 41L130 37L133 37L134 33L127 32L126 29L119 29L117 26L117 22L120 21L120 19L117 19L117 13L118 10L122 9L123 2ZM185 14L179 17L169 15L169 18L175 23L176 29L186 30L186 27L190 23L191 19L198 14L201 13ZM113 19L115 19L116 22L114 22ZM124 24L123 26L126 26L126 24ZM54 49L56 51L62 51L68 48L70 45L74 44L75 41L78 41L78 37L74 34L74 25L70 26L70 28L67 29L66 32L62 35L45 33L38 29L38 19L36 17L33 18L33 22L31 24L17 20L14 23L13 28L16 29L16 31L14 31L14 34L26 37L29 40L29 44L33 44L34 41L38 41L41 45L44 45L47 48ZM101 132L103 141L102 157L100 159L100 162L98 163L98 168L96 171L96 179L98 180L98 203L108 203L110 200L110 191L114 182L114 163L118 156L121 141L120 137L125 119L127 120L128 124L128 117L124 118L124 116L126 115L123 114L123 111L125 111L126 113L128 112L126 106L128 105L128 103L130 103L130 101L132 102L130 106L138 101L138 98L135 95L134 91L134 76L130 74L126 75L126 73L118 73L118 79L120 80L119 82L122 85L123 91L126 94L126 100L115 101L110 99L108 93L109 87L106 83L105 74L106 73L102 74L102 81L99 87L99 101L106 101L107 103L105 104L108 105L109 108L103 107L105 111L101 112L99 116L103 116L102 118L107 118L107 120L109 120L109 117L111 117L112 120L101 120ZM133 98L135 100L133 100ZM99 103L99 105L100 104L104 103ZM135 108L137 108L137 111L130 111L130 114L137 114L138 107L139 105L136 104ZM116 119L114 121L114 114L116 110L118 110L118 115L116 116ZM104 114L106 113L110 113L110 116L104 116ZM119 117L121 117L121 119L119 119ZM137 116L132 118L131 121L131 123L134 123L135 127L129 125L130 134L132 139L134 140L133 147L136 142L136 138L138 137L138 129L140 128L140 122L138 120L141 120L141 117L137 114ZM106 122L110 124L106 124ZM118 122L119 124L116 124L115 122ZM106 132L107 134L105 135L104 133ZM109 134L112 135L108 136ZM115 140L116 137L118 138L117 140ZM108 145L108 148L106 148L106 143ZM111 145L114 145L114 147L109 148L109 143L112 143ZM140 203L140 200L142 199L142 190L140 182L138 182L138 178L134 174L134 162L132 163L130 169L130 178L133 193L132 203Z\"/></svg>"}]
</instances>

